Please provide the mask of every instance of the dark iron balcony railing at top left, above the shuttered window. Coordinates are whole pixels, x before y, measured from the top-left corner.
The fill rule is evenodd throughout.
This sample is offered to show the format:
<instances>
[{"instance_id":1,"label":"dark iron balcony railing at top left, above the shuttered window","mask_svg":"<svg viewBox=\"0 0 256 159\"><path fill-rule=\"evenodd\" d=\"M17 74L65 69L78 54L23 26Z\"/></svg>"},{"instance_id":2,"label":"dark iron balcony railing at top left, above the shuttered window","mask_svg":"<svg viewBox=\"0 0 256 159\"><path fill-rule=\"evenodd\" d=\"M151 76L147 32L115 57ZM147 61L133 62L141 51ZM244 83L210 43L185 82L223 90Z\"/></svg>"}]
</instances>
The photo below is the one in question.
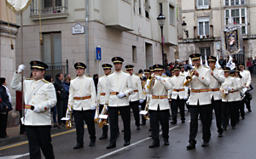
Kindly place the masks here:
<instances>
[{"instance_id":1,"label":"dark iron balcony railing at top left, above the shuttered window","mask_svg":"<svg viewBox=\"0 0 256 159\"><path fill-rule=\"evenodd\" d=\"M30 5L30 14L39 14L38 0L33 0ZM67 0L41 0L41 14L67 13Z\"/></svg>"}]
</instances>

